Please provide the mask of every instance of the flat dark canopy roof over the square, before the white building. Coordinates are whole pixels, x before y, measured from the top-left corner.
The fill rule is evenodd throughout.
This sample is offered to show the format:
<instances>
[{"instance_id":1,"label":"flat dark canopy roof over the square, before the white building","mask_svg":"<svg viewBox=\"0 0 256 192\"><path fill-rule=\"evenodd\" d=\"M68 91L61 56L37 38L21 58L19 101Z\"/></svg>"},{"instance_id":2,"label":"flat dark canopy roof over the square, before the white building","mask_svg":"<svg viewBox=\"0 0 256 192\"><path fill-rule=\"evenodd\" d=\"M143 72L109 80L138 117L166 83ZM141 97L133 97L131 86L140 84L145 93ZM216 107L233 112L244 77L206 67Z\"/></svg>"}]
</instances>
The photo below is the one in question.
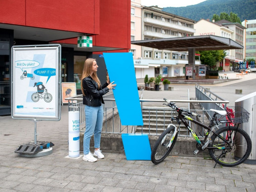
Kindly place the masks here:
<instances>
[{"instance_id":1,"label":"flat dark canopy roof over the square, before the white building","mask_svg":"<svg viewBox=\"0 0 256 192\"><path fill-rule=\"evenodd\" d=\"M175 51L188 51L189 48L195 48L196 51L244 48L242 45L230 38L222 38L212 35L137 40L131 41L131 44Z\"/></svg>"}]
</instances>

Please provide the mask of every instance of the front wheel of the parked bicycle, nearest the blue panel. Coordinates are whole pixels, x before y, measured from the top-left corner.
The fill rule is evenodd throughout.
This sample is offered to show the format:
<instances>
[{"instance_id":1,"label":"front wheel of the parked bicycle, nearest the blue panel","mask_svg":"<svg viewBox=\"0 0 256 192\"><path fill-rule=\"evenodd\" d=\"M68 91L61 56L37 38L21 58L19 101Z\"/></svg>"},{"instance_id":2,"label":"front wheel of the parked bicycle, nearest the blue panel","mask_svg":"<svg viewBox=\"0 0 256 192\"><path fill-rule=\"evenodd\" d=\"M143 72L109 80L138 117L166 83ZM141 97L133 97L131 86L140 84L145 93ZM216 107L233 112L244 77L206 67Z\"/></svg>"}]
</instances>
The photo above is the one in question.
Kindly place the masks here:
<instances>
[{"instance_id":1,"label":"front wheel of the parked bicycle, nearest the blue panel","mask_svg":"<svg viewBox=\"0 0 256 192\"><path fill-rule=\"evenodd\" d=\"M177 134L174 135L174 132L175 127L171 125L156 141L151 153L151 161L154 164L161 163L167 157L167 155L170 154L178 136Z\"/></svg>"}]
</instances>

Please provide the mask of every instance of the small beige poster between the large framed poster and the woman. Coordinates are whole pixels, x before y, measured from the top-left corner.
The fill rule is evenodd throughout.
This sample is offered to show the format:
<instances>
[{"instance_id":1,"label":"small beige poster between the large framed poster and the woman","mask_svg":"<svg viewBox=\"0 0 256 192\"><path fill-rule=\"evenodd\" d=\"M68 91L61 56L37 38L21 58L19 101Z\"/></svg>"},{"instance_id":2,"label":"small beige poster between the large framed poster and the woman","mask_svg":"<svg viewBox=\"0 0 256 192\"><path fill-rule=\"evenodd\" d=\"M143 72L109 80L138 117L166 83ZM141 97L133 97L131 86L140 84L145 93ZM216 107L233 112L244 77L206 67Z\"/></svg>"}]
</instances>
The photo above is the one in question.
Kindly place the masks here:
<instances>
[{"instance_id":1,"label":"small beige poster between the large framed poster and the woman","mask_svg":"<svg viewBox=\"0 0 256 192\"><path fill-rule=\"evenodd\" d=\"M65 100L68 97L73 97L77 95L77 87L75 82L62 82L61 83L61 92L62 92L62 103L68 103L68 100ZM77 103L76 100L73 100L73 103Z\"/></svg>"}]
</instances>

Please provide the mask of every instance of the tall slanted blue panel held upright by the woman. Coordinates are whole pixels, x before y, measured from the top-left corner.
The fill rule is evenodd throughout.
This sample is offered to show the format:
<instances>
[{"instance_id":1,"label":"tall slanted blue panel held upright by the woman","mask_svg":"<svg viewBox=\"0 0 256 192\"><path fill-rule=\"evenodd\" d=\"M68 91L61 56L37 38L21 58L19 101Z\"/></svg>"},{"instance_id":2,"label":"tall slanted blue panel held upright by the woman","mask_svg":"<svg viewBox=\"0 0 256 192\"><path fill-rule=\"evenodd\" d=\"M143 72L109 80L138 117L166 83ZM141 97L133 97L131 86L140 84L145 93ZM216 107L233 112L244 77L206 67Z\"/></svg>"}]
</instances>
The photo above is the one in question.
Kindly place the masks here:
<instances>
[{"instance_id":1,"label":"tall slanted blue panel held upright by the woman","mask_svg":"<svg viewBox=\"0 0 256 192\"><path fill-rule=\"evenodd\" d=\"M103 53L122 125L143 125L132 53Z\"/></svg>"}]
</instances>

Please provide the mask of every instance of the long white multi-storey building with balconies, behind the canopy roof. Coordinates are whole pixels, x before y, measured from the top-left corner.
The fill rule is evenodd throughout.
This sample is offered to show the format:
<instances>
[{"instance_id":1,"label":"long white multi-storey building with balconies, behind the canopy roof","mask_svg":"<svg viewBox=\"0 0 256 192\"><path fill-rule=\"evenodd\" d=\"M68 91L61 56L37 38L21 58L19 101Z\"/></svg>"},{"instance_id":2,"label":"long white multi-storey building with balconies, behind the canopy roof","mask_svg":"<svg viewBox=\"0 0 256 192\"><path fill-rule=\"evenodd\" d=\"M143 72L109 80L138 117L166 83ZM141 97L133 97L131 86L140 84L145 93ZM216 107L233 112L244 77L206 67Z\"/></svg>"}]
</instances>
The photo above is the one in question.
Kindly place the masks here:
<instances>
[{"instance_id":1,"label":"long white multi-storey building with balconies, behind the canopy roof","mask_svg":"<svg viewBox=\"0 0 256 192\"><path fill-rule=\"evenodd\" d=\"M140 7L141 13L139 13ZM134 15L131 13L131 22L141 17L141 34L137 33L139 29L131 29L131 39L147 40L194 36L194 23L196 23L194 20L164 12L157 6L140 6L140 0L131 0L131 12L133 9ZM137 25L134 24L134 26ZM133 34L134 37L132 37ZM132 44L130 51L133 52L136 78L144 78L145 75L156 77L159 74L164 77L185 76L185 65L188 64L187 52L158 50ZM196 65L200 65L199 60L196 60Z\"/></svg>"}]
</instances>

